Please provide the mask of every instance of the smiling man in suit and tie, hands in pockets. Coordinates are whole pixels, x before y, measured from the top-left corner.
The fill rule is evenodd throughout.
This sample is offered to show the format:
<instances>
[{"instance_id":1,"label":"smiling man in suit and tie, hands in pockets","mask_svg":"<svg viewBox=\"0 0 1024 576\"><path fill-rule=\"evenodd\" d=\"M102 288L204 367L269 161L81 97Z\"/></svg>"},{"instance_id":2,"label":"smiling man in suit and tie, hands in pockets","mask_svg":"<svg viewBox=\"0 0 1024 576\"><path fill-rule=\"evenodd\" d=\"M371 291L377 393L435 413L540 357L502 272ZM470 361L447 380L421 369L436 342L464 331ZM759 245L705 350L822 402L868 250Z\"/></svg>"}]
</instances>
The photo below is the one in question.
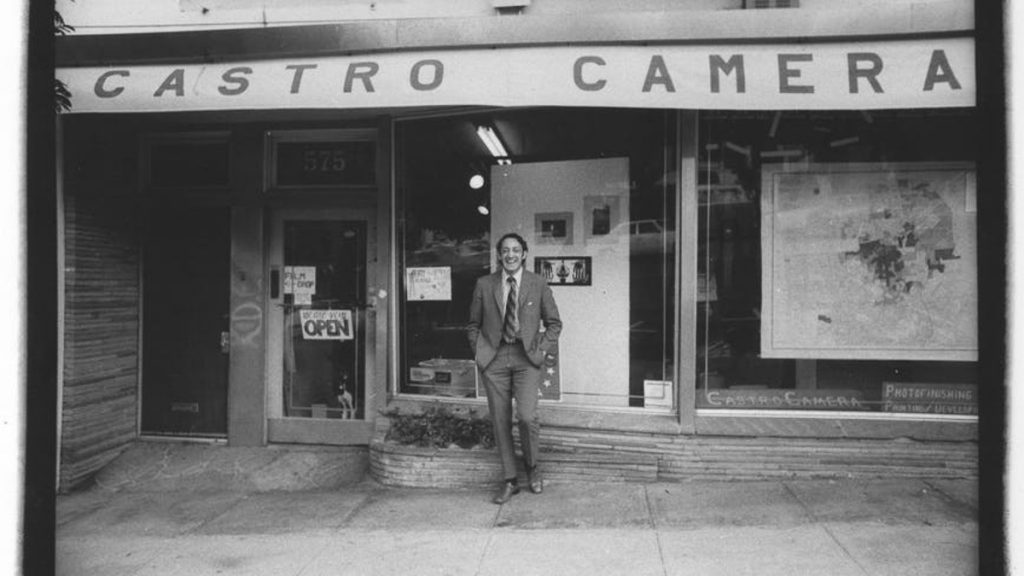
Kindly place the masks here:
<instances>
[{"instance_id":1,"label":"smiling man in suit and tie, hands in pockets","mask_svg":"<svg viewBox=\"0 0 1024 576\"><path fill-rule=\"evenodd\" d=\"M548 283L523 269L526 241L518 234L506 234L497 248L499 270L476 281L468 332L469 345L483 374L495 443L505 472L505 482L494 502L504 504L519 493L512 445L513 398L519 413L519 442L529 490L535 494L544 491L537 467L541 366L558 341L562 321Z\"/></svg>"}]
</instances>

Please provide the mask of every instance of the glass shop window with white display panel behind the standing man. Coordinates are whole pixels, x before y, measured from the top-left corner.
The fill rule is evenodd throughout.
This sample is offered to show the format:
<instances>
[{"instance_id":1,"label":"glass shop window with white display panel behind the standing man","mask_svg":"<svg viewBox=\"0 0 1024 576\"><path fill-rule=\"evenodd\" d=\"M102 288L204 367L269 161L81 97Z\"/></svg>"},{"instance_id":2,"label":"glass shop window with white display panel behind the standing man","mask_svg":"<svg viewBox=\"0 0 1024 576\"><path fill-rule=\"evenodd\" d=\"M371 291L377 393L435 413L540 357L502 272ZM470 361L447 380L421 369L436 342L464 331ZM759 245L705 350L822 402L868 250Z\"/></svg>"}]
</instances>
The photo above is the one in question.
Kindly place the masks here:
<instances>
[{"instance_id":1,"label":"glass shop window with white display panel behind the standing man","mask_svg":"<svg viewBox=\"0 0 1024 576\"><path fill-rule=\"evenodd\" d=\"M470 300L515 232L563 323L543 400L671 410L674 126L671 112L603 109L399 121L398 392L485 397Z\"/></svg>"}]
</instances>

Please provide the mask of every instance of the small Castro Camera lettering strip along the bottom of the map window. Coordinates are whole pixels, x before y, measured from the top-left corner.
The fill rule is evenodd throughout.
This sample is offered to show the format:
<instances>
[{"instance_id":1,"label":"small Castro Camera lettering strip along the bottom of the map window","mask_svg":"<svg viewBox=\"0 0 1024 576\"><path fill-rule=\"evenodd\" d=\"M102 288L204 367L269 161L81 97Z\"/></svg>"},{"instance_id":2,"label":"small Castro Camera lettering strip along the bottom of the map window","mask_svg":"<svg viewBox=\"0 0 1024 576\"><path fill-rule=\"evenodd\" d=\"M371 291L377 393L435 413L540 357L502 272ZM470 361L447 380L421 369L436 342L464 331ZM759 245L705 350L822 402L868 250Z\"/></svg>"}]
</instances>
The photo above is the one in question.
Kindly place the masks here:
<instances>
[{"instance_id":1,"label":"small Castro Camera lettering strip along the bottom of the map window","mask_svg":"<svg viewBox=\"0 0 1024 576\"><path fill-rule=\"evenodd\" d=\"M860 390L712 389L697 395L697 408L775 410L867 410Z\"/></svg>"}]
</instances>

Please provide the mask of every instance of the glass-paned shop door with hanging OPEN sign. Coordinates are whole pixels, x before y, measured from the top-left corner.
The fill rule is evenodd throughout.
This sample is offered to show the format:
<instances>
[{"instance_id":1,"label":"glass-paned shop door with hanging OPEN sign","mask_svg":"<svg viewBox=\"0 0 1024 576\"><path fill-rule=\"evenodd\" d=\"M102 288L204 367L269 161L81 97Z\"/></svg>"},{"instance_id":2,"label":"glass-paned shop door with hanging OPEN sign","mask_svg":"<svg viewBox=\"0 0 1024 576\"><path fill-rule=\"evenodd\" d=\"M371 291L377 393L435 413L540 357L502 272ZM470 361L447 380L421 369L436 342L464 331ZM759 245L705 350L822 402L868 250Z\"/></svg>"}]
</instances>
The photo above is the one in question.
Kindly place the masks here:
<instances>
[{"instance_id":1,"label":"glass-paned shop door with hanging OPEN sign","mask_svg":"<svg viewBox=\"0 0 1024 576\"><path fill-rule=\"evenodd\" d=\"M272 221L269 440L366 444L377 334L371 214L282 210Z\"/></svg>"}]
</instances>

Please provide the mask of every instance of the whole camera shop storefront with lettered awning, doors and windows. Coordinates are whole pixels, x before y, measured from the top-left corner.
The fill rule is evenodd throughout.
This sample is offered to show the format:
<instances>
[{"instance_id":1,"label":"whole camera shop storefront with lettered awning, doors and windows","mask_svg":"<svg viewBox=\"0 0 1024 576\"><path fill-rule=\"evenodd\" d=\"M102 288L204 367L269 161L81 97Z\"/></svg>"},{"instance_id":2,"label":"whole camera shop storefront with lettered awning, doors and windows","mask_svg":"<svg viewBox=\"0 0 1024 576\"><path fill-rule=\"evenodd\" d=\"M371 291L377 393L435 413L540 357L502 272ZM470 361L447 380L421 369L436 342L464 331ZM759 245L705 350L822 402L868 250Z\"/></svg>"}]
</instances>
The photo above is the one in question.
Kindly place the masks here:
<instances>
[{"instance_id":1,"label":"whole camera shop storefront with lettered awning, doors and windows","mask_svg":"<svg viewBox=\"0 0 1024 576\"><path fill-rule=\"evenodd\" d=\"M62 39L67 481L484 406L510 231L564 323L548 425L974 440L973 17L876 8Z\"/></svg>"}]
</instances>

